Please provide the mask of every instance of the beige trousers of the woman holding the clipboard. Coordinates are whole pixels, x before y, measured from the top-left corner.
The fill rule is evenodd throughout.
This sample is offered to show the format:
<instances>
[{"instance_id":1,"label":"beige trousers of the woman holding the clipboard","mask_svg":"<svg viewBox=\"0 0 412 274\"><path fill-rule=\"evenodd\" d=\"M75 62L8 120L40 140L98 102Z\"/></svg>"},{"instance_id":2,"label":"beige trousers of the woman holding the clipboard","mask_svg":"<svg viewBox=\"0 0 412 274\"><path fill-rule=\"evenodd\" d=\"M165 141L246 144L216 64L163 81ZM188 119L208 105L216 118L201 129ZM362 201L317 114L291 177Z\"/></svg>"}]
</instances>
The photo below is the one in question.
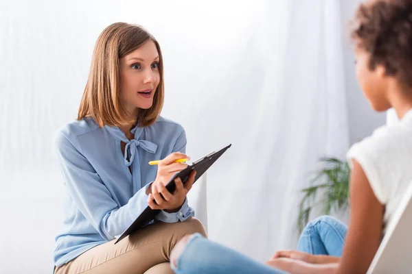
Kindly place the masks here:
<instances>
[{"instance_id":1,"label":"beige trousers of the woman holding the clipboard","mask_svg":"<svg viewBox=\"0 0 412 274\"><path fill-rule=\"evenodd\" d=\"M195 232L206 236L198 219L179 223L155 223L139 229L116 245L115 240L93 247L67 264L57 267L55 274L172 274L170 252L185 235Z\"/></svg>"}]
</instances>

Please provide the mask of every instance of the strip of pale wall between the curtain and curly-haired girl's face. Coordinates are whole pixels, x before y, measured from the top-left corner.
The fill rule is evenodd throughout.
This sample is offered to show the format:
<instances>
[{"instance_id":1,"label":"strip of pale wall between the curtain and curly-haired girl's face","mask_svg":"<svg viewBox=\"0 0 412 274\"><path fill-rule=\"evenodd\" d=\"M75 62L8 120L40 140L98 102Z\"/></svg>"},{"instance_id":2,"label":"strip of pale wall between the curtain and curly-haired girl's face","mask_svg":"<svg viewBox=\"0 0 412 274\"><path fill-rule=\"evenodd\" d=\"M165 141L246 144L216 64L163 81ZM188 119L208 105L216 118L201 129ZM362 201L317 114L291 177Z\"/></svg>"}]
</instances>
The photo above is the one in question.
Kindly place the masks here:
<instances>
[{"instance_id":1,"label":"strip of pale wall between the curtain and curly-haired girl's face","mask_svg":"<svg viewBox=\"0 0 412 274\"><path fill-rule=\"evenodd\" d=\"M369 103L363 97L361 88L355 76L354 53L350 42L350 24L348 23L354 14L354 10L360 0L342 0L342 25L346 35L343 40L343 55L345 62L345 89L347 100L347 119L349 122L350 143L358 142L371 134L376 127L385 124L385 113L377 113L371 109Z\"/></svg>"}]
</instances>

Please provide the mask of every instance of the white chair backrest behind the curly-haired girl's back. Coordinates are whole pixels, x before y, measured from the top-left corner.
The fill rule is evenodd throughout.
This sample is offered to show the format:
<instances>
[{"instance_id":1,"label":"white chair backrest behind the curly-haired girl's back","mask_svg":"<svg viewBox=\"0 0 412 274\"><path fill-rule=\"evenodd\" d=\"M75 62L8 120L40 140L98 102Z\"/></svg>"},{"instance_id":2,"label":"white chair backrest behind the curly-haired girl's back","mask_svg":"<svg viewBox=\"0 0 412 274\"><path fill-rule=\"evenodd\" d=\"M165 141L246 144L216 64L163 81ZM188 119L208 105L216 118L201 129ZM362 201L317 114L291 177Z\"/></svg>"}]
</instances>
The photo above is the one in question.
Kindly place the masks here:
<instances>
[{"instance_id":1,"label":"white chair backrest behind the curly-haired girl's back","mask_svg":"<svg viewBox=\"0 0 412 274\"><path fill-rule=\"evenodd\" d=\"M412 182L393 214L368 274L412 273Z\"/></svg>"}]
</instances>

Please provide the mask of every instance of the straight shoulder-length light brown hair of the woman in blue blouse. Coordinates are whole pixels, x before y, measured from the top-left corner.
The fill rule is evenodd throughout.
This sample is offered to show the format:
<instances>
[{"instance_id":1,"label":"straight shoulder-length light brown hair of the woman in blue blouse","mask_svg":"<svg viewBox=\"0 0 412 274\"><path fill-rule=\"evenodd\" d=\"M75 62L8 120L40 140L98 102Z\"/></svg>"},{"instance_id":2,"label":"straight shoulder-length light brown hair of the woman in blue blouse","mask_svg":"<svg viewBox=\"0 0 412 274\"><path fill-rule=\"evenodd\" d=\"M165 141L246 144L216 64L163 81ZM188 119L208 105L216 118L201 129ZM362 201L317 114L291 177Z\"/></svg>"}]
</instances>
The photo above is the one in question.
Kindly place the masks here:
<instances>
[{"instance_id":1,"label":"straight shoulder-length light brown hair of the woman in blue blouse","mask_svg":"<svg viewBox=\"0 0 412 274\"><path fill-rule=\"evenodd\" d=\"M159 51L159 86L152 107L148 110L139 109L137 117L130 117L120 100L119 59L141 47L148 40L155 42ZM80 102L78 120L91 116L100 127L136 123L146 127L159 118L163 99L163 58L157 40L139 25L114 23L106 27L93 51L89 79Z\"/></svg>"}]
</instances>

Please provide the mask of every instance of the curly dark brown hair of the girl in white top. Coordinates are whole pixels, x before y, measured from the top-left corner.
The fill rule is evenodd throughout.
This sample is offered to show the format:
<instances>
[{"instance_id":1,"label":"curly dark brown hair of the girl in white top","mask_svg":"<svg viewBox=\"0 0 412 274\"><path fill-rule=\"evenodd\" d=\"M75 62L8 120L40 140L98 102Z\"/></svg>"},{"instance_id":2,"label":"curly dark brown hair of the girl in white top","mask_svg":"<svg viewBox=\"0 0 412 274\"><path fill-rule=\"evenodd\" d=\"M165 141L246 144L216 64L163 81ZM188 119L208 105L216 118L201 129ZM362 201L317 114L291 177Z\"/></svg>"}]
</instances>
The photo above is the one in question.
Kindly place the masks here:
<instances>
[{"instance_id":1,"label":"curly dark brown hair of the girl in white top","mask_svg":"<svg viewBox=\"0 0 412 274\"><path fill-rule=\"evenodd\" d=\"M377 0L361 4L352 39L370 54L369 69L385 67L388 76L412 87L412 0Z\"/></svg>"}]
</instances>

